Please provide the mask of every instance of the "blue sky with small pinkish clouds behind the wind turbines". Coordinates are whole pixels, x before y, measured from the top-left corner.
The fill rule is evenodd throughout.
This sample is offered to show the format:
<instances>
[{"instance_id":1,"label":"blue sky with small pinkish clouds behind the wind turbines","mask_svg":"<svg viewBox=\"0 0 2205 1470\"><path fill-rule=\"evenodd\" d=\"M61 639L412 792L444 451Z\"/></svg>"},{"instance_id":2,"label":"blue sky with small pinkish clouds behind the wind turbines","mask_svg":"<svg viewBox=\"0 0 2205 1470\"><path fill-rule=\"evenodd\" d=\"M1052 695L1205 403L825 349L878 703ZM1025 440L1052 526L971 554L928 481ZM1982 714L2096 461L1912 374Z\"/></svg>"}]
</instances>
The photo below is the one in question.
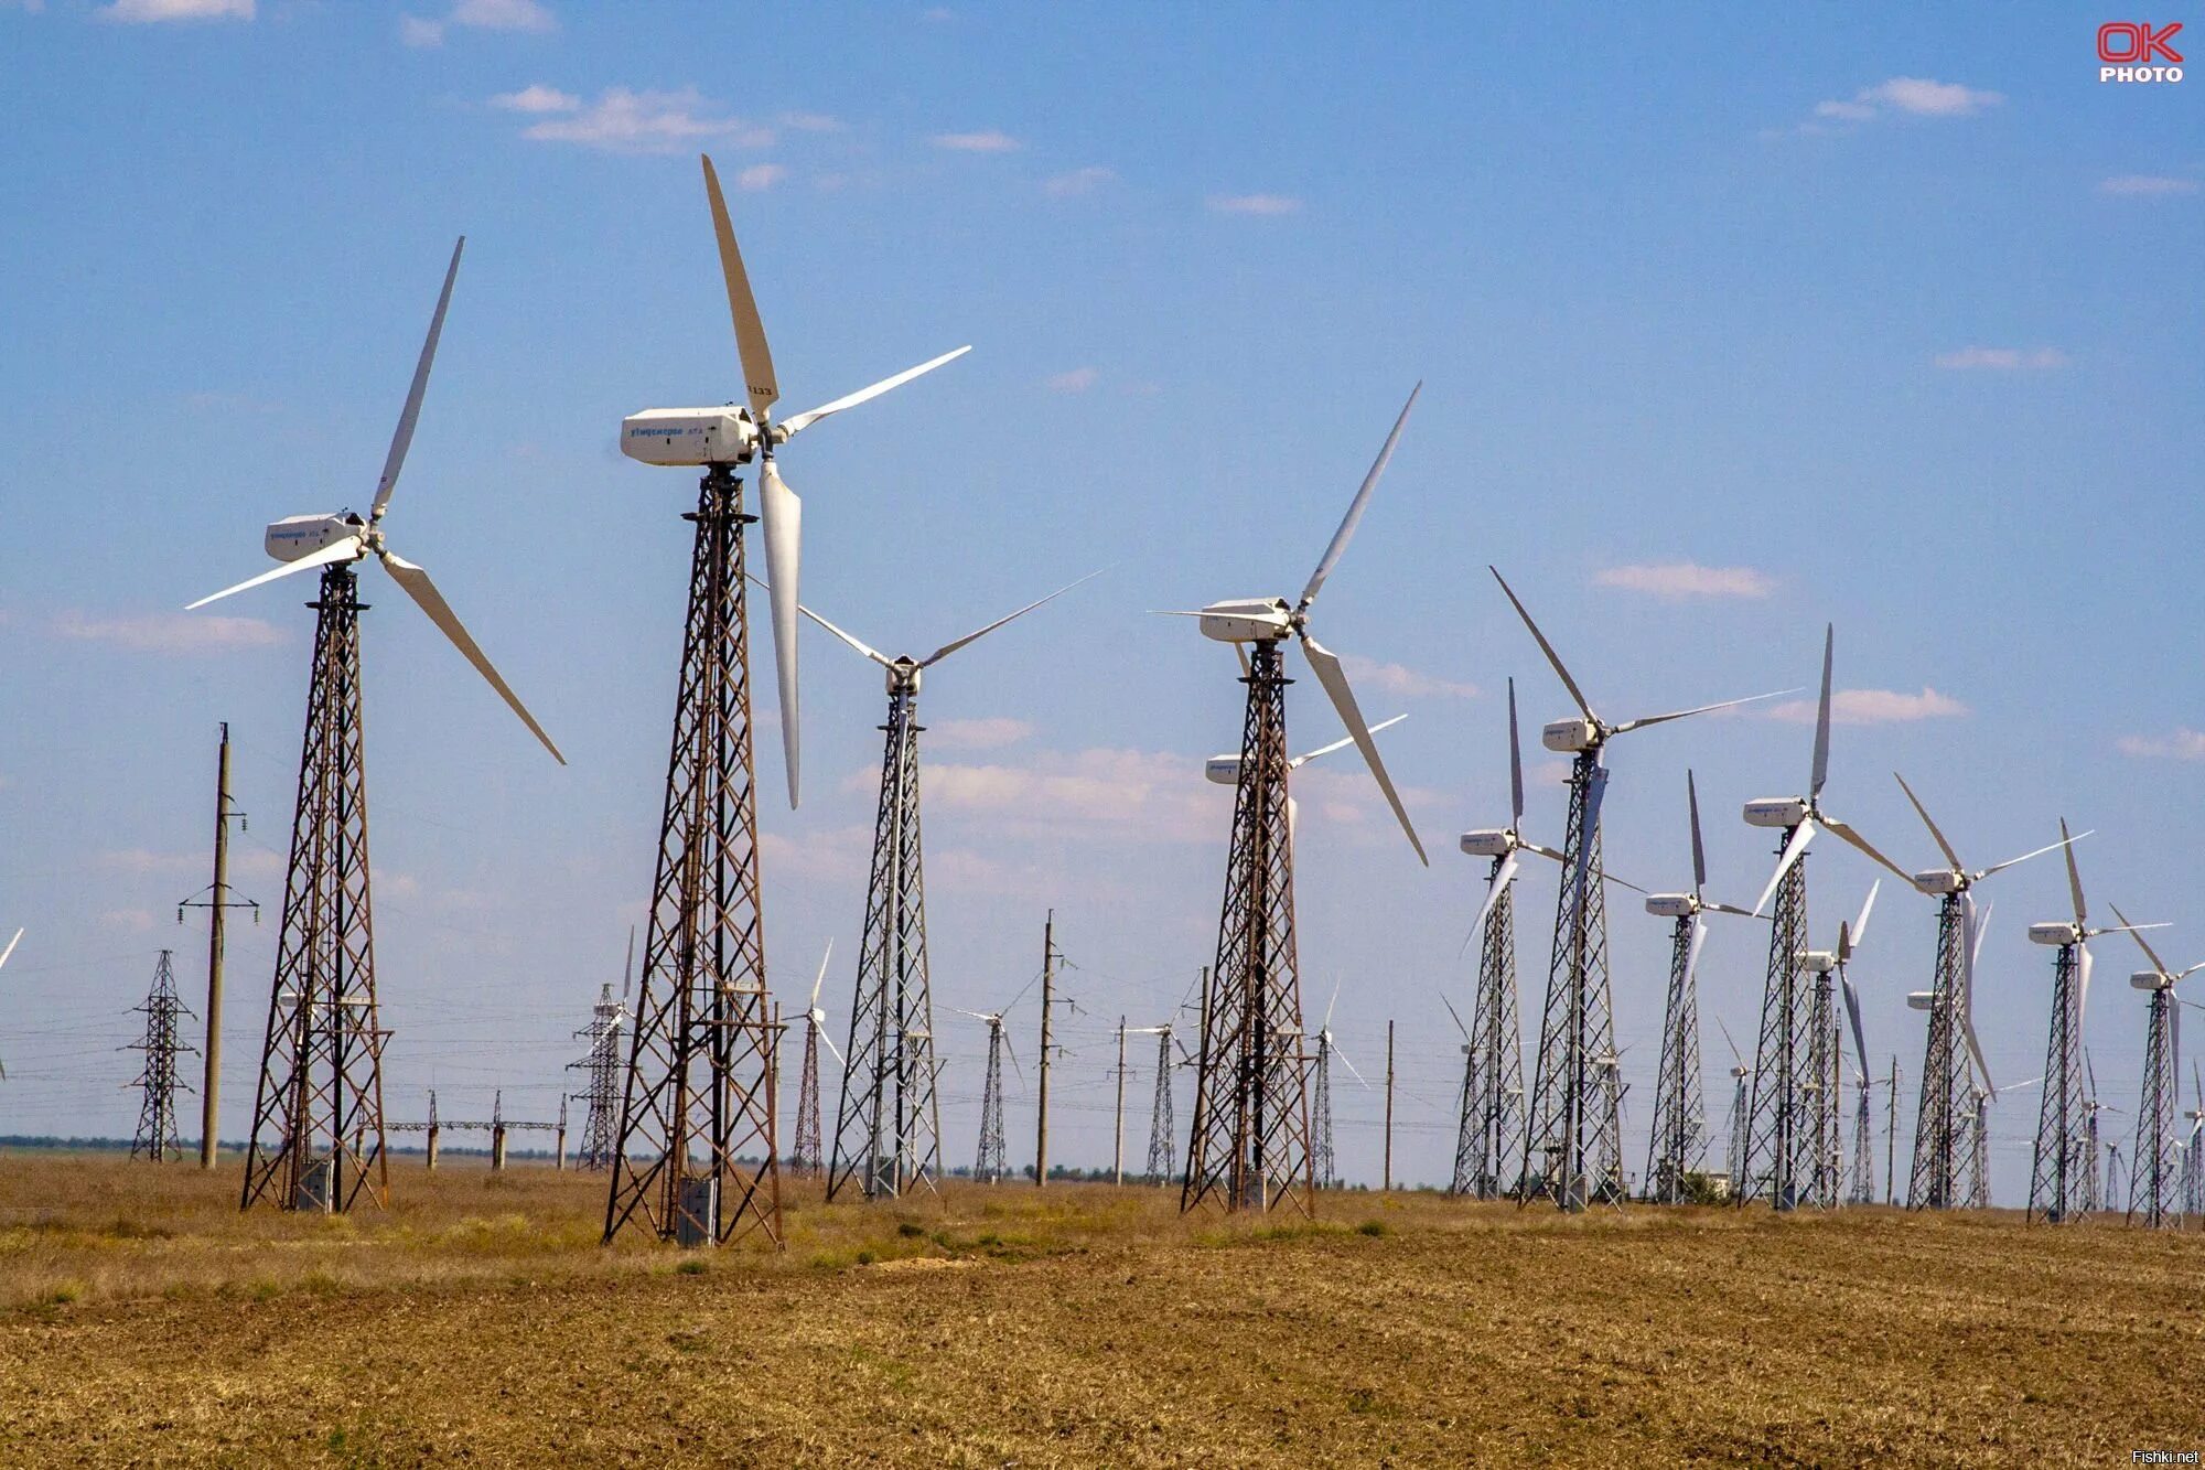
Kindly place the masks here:
<instances>
[{"instance_id":1,"label":"blue sky with small pinkish clouds behind the wind turbines","mask_svg":"<svg viewBox=\"0 0 2205 1470\"><path fill-rule=\"evenodd\" d=\"M1486 563L1612 717L1810 684L1832 620L1857 691L1832 812L1910 867L1932 845L1894 768L1978 865L2066 814L2099 830L2097 903L2205 956L2205 675L2172 631L2201 532L2205 84L2101 86L2097 20L0 4L0 923L31 929L0 973L0 1130L130 1128L137 1057L112 1048L159 947L196 1004L203 931L174 903L205 883L229 720L238 887L267 905L234 942L243 1132L311 622L295 587L179 609L265 565L262 523L370 499L456 234L390 539L571 766L366 572L386 1088L395 1117L430 1084L448 1112L496 1086L509 1112L556 1106L650 878L695 492L615 428L739 391L701 148L736 183L787 408L975 344L787 452L807 600L924 649L1114 563L931 673L922 706L937 1004L1019 993L1052 905L1078 965L1058 1159L1107 1159L1107 1029L1160 1020L1213 947L1226 792L1200 759L1237 739L1239 686L1149 609L1297 589L1418 380L1321 629L1365 660L1374 717L1411 715L1387 759L1433 867L1352 759L1299 786L1305 1004L1341 984L1334 1031L1372 1077L1402 1024L1398 1174L1451 1157L1438 998L1466 991L1484 872L1453 834L1504 819L1502 682L1530 726L1566 711ZM805 669L807 799L761 808L767 942L794 995L840 940L840 1024L882 693L816 631ZM1806 777L1810 726L1784 715L1618 742L1612 867L1682 881L1691 766L1713 887L1751 901L1771 856L1738 803ZM1310 680L1290 722L1297 748L1338 735ZM1532 766L1555 837L1561 788ZM1821 934L1872 870L1824 839L1813 874ZM2051 956L2022 925L2062 894L2048 859L1982 890L2002 1079L2042 1070ZM1535 1015L1546 874L1519 914ZM1885 892L1859 962L1870 1048L1910 1079L1932 938L1934 905ZM1612 942L1638 1104L1667 925L1616 905ZM2126 1108L2130 958L2101 942L2088 1022ZM1757 936L1718 931L1718 1112L1713 1018L1744 1040L1760 976ZM1012 1024L1030 1075L1032 1000ZM942 1031L968 1161L983 1033ZM1136 1157L1147 1095L1142 1068ZM1376 1119L1343 1079L1349 1176L1376 1176ZM2033 1093L1998 1115L2004 1201L2033 1126ZM1632 1106L1634 1170L1643 1128Z\"/></svg>"}]
</instances>

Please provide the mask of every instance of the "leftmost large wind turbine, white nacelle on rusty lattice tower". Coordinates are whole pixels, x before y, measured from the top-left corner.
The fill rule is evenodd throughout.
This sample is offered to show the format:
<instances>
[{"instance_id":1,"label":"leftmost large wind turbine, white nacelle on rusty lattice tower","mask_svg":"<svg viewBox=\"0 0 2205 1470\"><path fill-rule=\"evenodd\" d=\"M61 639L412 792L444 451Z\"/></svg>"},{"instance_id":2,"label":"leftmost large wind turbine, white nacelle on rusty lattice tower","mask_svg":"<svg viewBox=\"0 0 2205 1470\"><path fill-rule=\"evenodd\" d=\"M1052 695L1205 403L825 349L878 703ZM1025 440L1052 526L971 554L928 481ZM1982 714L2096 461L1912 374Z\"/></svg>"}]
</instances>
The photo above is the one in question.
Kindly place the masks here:
<instances>
[{"instance_id":1,"label":"leftmost large wind turbine, white nacelle on rusty lattice tower","mask_svg":"<svg viewBox=\"0 0 2205 1470\"><path fill-rule=\"evenodd\" d=\"M375 1011L375 925L368 896L368 786L359 709L359 576L375 556L399 589L452 640L529 733L562 766L536 717L492 667L437 592L430 574L390 550L384 519L412 448L421 400L437 362L437 340L459 280L461 236L443 271L428 340L390 435L368 514L353 510L273 521L262 547L280 565L198 598L185 611L300 572L320 572L313 662L306 678L306 733L300 748L291 865L282 934L269 993L260 1090L245 1159L245 1207L273 1199L282 1210L344 1214L362 1190L388 1203L384 1161L381 1053L388 1037Z\"/></svg>"}]
</instances>

